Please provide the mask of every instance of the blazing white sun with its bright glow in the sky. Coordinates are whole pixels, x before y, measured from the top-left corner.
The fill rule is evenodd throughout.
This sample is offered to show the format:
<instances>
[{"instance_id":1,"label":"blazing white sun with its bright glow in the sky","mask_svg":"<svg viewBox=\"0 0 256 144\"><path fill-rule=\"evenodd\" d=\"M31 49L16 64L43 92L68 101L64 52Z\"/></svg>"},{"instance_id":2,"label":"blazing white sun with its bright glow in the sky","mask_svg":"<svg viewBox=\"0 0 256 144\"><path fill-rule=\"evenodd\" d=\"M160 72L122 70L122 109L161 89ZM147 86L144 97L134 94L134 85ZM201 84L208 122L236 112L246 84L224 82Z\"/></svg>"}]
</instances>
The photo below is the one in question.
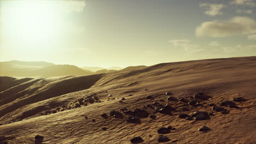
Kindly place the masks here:
<instances>
[{"instance_id":1,"label":"blazing white sun with its bright glow in the sky","mask_svg":"<svg viewBox=\"0 0 256 144\"><path fill-rule=\"evenodd\" d=\"M0 30L4 41L40 44L61 37L62 15L58 3L45 0L0 3Z\"/></svg>"}]
</instances>

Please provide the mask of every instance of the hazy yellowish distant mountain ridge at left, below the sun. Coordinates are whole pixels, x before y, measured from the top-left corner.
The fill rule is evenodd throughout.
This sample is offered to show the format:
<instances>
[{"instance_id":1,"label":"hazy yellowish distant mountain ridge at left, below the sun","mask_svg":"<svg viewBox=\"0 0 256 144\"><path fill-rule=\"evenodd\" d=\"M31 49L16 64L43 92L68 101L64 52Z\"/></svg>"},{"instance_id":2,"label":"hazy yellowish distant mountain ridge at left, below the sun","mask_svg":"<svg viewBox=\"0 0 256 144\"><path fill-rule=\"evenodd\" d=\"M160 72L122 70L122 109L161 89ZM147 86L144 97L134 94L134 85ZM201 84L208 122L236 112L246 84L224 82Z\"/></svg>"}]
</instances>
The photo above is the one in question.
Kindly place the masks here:
<instances>
[{"instance_id":1,"label":"hazy yellowish distant mountain ridge at left, below the sun","mask_svg":"<svg viewBox=\"0 0 256 144\"><path fill-rule=\"evenodd\" d=\"M74 65L55 65L48 62L0 62L1 76L51 77L65 75L91 75L92 71L80 69Z\"/></svg>"}]
</instances>

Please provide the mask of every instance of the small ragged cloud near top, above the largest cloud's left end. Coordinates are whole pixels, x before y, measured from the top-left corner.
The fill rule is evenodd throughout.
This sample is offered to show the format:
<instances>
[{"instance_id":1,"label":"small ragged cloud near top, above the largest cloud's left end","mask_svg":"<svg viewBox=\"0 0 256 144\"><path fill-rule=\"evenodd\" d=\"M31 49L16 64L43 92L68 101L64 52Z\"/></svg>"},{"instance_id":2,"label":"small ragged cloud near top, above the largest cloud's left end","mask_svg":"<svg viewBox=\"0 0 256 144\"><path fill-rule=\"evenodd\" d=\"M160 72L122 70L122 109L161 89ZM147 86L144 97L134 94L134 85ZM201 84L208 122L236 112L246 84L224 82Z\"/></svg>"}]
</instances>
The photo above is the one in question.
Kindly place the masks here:
<instances>
[{"instance_id":1,"label":"small ragged cloud near top, above the largest cloud's left end","mask_svg":"<svg viewBox=\"0 0 256 144\"><path fill-rule=\"evenodd\" d=\"M200 7L203 9L207 9L205 11L206 15L216 16L222 15L223 13L220 11L225 7L224 4L210 4L210 3L201 3Z\"/></svg>"}]
</instances>

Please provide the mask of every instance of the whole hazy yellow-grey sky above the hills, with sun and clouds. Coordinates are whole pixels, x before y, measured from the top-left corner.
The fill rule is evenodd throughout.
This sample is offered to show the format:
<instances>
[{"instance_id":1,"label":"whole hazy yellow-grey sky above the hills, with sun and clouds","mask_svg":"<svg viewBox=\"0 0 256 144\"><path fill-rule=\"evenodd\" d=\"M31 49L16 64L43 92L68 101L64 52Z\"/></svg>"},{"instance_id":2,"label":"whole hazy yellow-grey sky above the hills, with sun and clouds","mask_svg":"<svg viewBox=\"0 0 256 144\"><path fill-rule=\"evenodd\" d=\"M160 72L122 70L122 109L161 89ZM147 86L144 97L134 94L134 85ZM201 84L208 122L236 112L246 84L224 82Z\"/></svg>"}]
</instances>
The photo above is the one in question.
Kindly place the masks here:
<instances>
[{"instance_id":1,"label":"whole hazy yellow-grey sky above the hills, with sun and clouds","mask_svg":"<svg viewBox=\"0 0 256 144\"><path fill-rule=\"evenodd\" d=\"M0 61L127 67L256 56L256 0L0 1Z\"/></svg>"}]
</instances>

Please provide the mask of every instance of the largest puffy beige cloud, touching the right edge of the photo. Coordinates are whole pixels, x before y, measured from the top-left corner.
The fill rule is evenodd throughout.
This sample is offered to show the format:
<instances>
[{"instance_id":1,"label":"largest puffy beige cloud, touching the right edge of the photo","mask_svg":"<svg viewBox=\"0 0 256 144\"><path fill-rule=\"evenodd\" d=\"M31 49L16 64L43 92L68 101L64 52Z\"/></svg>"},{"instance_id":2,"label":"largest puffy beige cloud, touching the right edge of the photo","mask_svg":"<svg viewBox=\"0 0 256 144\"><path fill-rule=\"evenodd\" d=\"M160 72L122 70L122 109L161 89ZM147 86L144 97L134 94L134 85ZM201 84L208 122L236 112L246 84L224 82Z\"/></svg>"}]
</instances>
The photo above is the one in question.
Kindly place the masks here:
<instances>
[{"instance_id":1,"label":"largest puffy beige cloud, touching the right edge of the photo","mask_svg":"<svg viewBox=\"0 0 256 144\"><path fill-rule=\"evenodd\" d=\"M195 34L203 37L228 37L236 34L246 34L256 30L256 22L249 17L234 17L228 21L202 22Z\"/></svg>"}]
</instances>

